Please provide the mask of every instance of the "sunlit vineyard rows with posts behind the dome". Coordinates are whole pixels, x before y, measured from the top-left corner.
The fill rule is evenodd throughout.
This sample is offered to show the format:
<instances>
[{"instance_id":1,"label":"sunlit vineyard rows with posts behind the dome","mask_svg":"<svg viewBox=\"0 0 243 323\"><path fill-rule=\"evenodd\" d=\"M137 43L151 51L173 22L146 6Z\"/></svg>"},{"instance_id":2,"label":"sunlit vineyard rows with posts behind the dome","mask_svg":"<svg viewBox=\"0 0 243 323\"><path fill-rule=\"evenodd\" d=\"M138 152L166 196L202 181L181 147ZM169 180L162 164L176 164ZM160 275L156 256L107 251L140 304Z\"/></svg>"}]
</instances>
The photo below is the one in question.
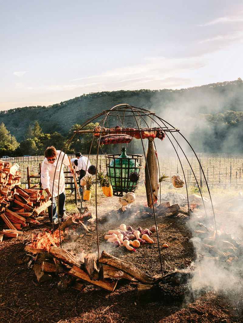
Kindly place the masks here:
<instances>
[{"instance_id":1,"label":"sunlit vineyard rows with posts behind the dome","mask_svg":"<svg viewBox=\"0 0 243 323\"><path fill-rule=\"evenodd\" d=\"M74 157L75 156L70 155L70 158ZM29 166L30 174L35 174L38 172L39 165L42 163L43 159L44 156L15 157L14 160L19 164L20 172L22 173L22 185L27 185L27 167ZM200 153L198 154L198 159L202 164L209 188L212 189L216 186L221 187L222 189L240 189L243 186L243 154ZM197 182L202 187L205 186L203 172L201 172L199 162L194 154L190 153L187 157L179 156L179 158L176 154L158 154L158 161L161 174L165 173L170 178L172 175L179 173L182 177L185 177L189 187L196 186ZM90 162L91 164L96 164L96 155L90 156ZM99 155L98 167L101 168L102 171L105 170L105 163L105 156ZM191 164L191 167L189 163ZM143 165L145 165L145 159L143 160ZM197 178L197 182L193 172ZM143 166L140 185L143 185L144 178L145 172ZM169 180L168 183L170 183Z\"/></svg>"}]
</instances>

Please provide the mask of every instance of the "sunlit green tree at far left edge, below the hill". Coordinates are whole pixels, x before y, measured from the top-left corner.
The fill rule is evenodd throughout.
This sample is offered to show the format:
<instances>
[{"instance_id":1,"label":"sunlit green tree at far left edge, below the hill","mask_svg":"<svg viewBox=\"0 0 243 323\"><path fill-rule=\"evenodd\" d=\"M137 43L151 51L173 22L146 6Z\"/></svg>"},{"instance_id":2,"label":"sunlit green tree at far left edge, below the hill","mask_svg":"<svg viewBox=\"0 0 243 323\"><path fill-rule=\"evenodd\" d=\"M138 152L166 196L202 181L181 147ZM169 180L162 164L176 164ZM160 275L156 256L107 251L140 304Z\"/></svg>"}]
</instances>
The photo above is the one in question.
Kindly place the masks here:
<instances>
[{"instance_id":1,"label":"sunlit green tree at far left edge, below the hill","mask_svg":"<svg viewBox=\"0 0 243 323\"><path fill-rule=\"evenodd\" d=\"M2 122L0 124L0 154L1 155L13 155L14 151L19 146L16 138L10 135L10 131L8 131Z\"/></svg>"}]
</instances>

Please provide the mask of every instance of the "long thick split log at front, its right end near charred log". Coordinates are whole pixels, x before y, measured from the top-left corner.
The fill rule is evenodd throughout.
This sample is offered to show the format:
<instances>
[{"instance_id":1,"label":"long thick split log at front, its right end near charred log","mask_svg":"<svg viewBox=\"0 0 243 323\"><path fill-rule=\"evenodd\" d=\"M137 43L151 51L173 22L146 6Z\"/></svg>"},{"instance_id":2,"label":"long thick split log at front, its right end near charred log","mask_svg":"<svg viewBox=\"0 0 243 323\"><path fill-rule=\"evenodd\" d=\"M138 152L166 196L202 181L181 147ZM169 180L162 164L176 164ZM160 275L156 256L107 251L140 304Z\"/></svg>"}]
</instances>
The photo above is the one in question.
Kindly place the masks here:
<instances>
[{"instance_id":1,"label":"long thick split log at front, its right end near charred log","mask_svg":"<svg viewBox=\"0 0 243 323\"><path fill-rule=\"evenodd\" d=\"M146 275L133 264L127 261L123 261L119 258L113 257L112 255L109 255L106 251L102 251L99 262L118 268L144 284L151 284L153 282L153 278L151 276Z\"/></svg>"}]
</instances>

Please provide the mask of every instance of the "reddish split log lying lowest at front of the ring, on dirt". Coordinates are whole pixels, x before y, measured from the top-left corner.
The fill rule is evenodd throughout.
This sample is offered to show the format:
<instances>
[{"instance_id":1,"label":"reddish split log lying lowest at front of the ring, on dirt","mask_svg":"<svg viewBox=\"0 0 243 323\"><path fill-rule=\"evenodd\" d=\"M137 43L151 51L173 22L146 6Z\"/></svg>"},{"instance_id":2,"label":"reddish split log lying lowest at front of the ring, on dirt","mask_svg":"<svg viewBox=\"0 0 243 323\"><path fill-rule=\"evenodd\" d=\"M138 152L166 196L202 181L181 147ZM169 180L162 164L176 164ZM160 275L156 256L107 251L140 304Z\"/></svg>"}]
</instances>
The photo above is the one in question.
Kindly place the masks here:
<instances>
[{"instance_id":1,"label":"reddish split log lying lowest at front of the ring, on dirt","mask_svg":"<svg viewBox=\"0 0 243 323\"><path fill-rule=\"evenodd\" d=\"M113 292L116 288L116 282L109 282L105 279L100 279L100 280L90 280L88 274L86 274L81 268L77 267L77 266L73 266L72 269L69 271L68 273L71 276L74 276L76 278L79 278L89 284L92 284L96 287L100 287L103 288L105 290L108 290L110 292Z\"/></svg>"}]
</instances>

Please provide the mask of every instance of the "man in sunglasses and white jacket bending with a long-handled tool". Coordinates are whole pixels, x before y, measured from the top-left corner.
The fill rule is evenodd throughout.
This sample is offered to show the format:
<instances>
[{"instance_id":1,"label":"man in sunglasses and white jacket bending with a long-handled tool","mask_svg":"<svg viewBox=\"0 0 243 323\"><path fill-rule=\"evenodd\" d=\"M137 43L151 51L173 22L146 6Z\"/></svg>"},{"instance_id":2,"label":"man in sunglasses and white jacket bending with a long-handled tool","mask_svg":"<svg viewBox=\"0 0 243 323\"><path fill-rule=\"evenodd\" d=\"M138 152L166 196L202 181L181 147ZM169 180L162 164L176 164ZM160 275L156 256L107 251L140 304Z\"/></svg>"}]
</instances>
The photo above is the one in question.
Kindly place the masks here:
<instances>
[{"instance_id":1,"label":"man in sunglasses and white jacket bending with a long-handled tool","mask_svg":"<svg viewBox=\"0 0 243 323\"><path fill-rule=\"evenodd\" d=\"M49 198L52 198L52 205L48 207L48 215L49 215L50 221L52 223L52 219L53 219L53 223L57 224L58 216L57 216L55 197L58 195L59 195L59 215L61 216L61 220L64 217L66 217L65 178L64 178L63 168L64 168L64 165L69 166L69 160L67 155L64 154L63 151L61 152L60 150L56 150L54 146L47 147L47 149L44 152L44 156L45 156L45 159L41 165L41 184L43 186L43 189L47 193L47 200L49 200ZM58 157L59 157L59 160L58 160ZM54 179L54 174L55 174L55 179ZM59 175L60 175L60 181L59 181ZM59 182L59 190L58 190L58 182ZM53 194L52 194L52 190L53 190Z\"/></svg>"}]
</instances>

